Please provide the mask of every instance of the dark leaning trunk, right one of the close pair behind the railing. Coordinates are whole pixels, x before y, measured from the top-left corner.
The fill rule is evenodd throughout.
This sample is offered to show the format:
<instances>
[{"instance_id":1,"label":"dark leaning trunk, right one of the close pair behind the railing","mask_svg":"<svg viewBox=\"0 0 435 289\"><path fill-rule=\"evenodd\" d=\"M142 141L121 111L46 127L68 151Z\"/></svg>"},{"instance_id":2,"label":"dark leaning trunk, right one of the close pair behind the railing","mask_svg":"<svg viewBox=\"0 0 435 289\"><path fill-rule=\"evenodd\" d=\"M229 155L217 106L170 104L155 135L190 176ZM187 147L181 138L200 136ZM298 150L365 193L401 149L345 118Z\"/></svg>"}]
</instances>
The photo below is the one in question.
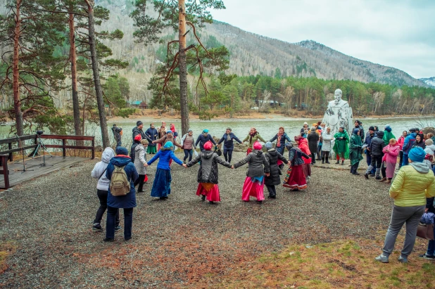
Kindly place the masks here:
<instances>
[{"instance_id":1,"label":"dark leaning trunk, right one of the close pair behind the railing","mask_svg":"<svg viewBox=\"0 0 435 289\"><path fill-rule=\"evenodd\" d=\"M103 92L101 91L101 82L98 69L98 59L96 58L96 39L94 29L94 8L89 0L85 0L87 4L87 15L89 21L89 48L91 49L92 73L94 75L94 86L96 94L96 104L98 105L101 126L101 140L103 141L103 148L109 146L108 130L106 123L106 112L104 111Z\"/></svg>"}]
</instances>

